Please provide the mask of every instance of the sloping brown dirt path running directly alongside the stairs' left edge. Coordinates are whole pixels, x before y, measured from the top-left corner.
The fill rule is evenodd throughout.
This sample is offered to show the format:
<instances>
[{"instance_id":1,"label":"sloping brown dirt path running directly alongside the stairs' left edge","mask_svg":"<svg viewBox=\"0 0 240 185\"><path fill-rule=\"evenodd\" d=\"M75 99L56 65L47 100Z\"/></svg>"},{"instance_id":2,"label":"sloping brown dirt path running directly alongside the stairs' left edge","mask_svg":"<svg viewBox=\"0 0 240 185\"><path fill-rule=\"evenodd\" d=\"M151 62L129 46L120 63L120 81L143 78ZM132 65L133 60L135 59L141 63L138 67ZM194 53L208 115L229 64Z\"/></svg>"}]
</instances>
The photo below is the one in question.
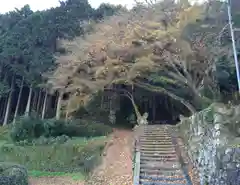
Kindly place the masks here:
<instances>
[{"instance_id":1,"label":"sloping brown dirt path running directly alongside the stairs' left edge","mask_svg":"<svg viewBox=\"0 0 240 185\"><path fill-rule=\"evenodd\" d=\"M132 136L132 131L114 131L102 165L86 185L132 185Z\"/></svg>"}]
</instances>

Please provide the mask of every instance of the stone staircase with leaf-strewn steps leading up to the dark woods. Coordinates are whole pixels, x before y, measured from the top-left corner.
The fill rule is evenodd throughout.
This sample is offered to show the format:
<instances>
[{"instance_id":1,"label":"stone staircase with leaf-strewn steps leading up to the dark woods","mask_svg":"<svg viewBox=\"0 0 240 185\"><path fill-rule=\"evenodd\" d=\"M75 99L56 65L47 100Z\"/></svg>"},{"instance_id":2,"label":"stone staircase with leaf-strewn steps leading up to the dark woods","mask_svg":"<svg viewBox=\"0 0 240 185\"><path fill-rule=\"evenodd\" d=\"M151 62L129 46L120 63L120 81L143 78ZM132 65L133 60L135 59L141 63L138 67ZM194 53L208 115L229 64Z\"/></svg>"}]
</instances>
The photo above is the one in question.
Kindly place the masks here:
<instances>
[{"instance_id":1,"label":"stone staircase with leaf-strewn steps leading up to the dark woods","mask_svg":"<svg viewBox=\"0 0 240 185\"><path fill-rule=\"evenodd\" d=\"M142 126L134 185L190 185L167 126Z\"/></svg>"}]
</instances>

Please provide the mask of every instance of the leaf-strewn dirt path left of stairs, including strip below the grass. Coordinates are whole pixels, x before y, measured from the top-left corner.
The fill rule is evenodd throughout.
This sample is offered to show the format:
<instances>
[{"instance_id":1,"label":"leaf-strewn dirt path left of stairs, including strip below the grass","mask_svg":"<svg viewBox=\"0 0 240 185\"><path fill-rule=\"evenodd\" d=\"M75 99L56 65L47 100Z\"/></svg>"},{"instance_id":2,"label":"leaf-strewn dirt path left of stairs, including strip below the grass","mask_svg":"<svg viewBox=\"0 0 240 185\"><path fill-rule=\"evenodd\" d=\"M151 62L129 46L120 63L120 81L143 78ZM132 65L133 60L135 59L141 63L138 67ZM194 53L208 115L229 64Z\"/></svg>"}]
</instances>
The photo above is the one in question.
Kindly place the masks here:
<instances>
[{"instance_id":1,"label":"leaf-strewn dirt path left of stairs, including strip below the grass","mask_svg":"<svg viewBox=\"0 0 240 185\"><path fill-rule=\"evenodd\" d=\"M70 177L31 178L31 185L132 185L131 145L133 132L116 129L102 164L88 182Z\"/></svg>"}]
</instances>

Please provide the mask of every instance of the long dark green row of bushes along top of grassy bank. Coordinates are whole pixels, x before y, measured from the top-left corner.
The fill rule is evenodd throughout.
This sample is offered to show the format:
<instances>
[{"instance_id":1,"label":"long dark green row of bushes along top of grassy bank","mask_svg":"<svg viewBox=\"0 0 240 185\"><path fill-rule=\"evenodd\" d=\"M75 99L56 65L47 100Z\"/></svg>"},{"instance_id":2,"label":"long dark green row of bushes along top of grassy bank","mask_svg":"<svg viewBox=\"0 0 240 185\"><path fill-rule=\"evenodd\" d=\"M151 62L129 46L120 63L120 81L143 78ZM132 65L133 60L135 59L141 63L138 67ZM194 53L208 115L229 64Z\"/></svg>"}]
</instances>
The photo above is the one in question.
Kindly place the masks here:
<instances>
[{"instance_id":1,"label":"long dark green row of bushes along top of grassy bank","mask_svg":"<svg viewBox=\"0 0 240 185\"><path fill-rule=\"evenodd\" d=\"M40 120L33 117L20 117L11 128L10 136L14 142L32 143L34 139L40 138L40 136L43 136L43 140L50 137L64 137L63 135L68 137L95 137L105 136L111 131L111 127L93 121L74 120L65 122L55 119ZM61 140L63 138L55 139ZM44 143L44 141L42 142Z\"/></svg>"}]
</instances>

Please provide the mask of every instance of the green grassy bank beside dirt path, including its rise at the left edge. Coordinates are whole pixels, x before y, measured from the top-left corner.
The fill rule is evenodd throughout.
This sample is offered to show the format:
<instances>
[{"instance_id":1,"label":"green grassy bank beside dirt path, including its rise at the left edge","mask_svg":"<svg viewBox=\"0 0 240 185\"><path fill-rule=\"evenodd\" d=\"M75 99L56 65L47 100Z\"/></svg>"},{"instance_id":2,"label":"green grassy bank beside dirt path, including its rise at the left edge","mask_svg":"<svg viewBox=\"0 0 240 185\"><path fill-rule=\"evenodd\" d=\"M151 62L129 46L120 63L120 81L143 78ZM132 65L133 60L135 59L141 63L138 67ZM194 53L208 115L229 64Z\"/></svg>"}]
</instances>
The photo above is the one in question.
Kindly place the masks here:
<instances>
[{"instance_id":1,"label":"green grassy bank beside dirt path, including its rise at the left edge","mask_svg":"<svg viewBox=\"0 0 240 185\"><path fill-rule=\"evenodd\" d=\"M24 165L30 176L82 179L99 164L108 137L74 137L63 144L16 146L0 128L0 162Z\"/></svg>"}]
</instances>

